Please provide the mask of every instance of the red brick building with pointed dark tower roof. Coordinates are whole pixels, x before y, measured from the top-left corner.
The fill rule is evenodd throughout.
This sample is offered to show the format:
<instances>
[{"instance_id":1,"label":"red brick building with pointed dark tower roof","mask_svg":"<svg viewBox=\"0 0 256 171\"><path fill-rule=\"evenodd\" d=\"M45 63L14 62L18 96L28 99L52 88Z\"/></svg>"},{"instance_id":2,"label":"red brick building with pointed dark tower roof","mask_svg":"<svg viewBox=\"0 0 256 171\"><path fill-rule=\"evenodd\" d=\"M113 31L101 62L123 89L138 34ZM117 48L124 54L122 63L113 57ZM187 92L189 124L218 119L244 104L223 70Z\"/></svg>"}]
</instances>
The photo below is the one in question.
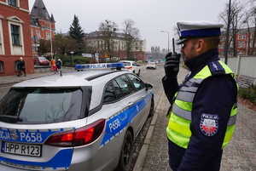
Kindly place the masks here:
<instances>
[{"instance_id":1,"label":"red brick building with pointed dark tower roof","mask_svg":"<svg viewBox=\"0 0 256 171\"><path fill-rule=\"evenodd\" d=\"M30 13L32 55L38 55L38 45L40 39L52 40L55 34L55 19L49 13L43 0L36 0Z\"/></svg>"}]
</instances>

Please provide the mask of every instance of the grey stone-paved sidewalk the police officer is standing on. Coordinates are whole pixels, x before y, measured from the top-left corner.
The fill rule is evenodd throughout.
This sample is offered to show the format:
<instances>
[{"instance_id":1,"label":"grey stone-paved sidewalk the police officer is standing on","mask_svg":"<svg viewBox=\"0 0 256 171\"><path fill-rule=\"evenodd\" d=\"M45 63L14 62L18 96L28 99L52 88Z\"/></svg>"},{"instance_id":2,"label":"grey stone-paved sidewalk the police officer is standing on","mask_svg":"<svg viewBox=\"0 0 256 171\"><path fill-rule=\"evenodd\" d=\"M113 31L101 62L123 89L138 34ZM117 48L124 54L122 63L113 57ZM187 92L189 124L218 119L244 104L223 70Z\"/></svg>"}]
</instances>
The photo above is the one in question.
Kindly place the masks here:
<instances>
[{"instance_id":1,"label":"grey stone-paved sidewalk the police officer is standing on","mask_svg":"<svg viewBox=\"0 0 256 171\"><path fill-rule=\"evenodd\" d=\"M185 76L181 67L178 82ZM170 104L162 91L134 171L172 171L168 163L166 112ZM220 171L256 171L256 111L238 104L235 133L224 147ZM207 152L207 151L206 151Z\"/></svg>"}]
</instances>

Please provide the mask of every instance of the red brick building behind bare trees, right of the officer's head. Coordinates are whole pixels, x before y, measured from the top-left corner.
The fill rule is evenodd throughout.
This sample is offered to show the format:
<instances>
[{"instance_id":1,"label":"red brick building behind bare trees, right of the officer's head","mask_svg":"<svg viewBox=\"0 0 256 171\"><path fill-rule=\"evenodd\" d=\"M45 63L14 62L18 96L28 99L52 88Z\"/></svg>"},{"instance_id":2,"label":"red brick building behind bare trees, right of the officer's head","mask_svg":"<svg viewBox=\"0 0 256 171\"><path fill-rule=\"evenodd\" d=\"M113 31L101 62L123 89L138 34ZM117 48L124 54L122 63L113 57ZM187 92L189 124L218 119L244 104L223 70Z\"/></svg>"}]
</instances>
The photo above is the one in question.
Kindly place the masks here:
<instances>
[{"instance_id":1,"label":"red brick building behind bare trees, right of the officer's head","mask_svg":"<svg viewBox=\"0 0 256 171\"><path fill-rule=\"evenodd\" d=\"M243 28L236 31L236 43L231 41L229 47L229 56L236 55L255 55L256 54L256 40L255 40L255 27ZM224 45L225 45L225 35L226 32L222 32L219 43L219 54L224 56ZM229 37L233 40L233 37ZM234 53L235 52L235 53Z\"/></svg>"}]
</instances>

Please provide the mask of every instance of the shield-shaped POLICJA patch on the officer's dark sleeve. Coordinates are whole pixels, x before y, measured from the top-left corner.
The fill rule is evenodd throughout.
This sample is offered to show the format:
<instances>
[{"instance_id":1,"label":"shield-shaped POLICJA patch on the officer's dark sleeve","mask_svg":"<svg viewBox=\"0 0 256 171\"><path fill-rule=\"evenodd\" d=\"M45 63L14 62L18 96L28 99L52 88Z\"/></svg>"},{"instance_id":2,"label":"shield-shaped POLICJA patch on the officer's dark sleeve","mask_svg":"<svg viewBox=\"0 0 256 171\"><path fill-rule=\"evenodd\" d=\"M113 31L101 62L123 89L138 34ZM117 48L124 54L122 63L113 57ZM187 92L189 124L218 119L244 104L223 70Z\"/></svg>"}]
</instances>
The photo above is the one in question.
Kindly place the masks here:
<instances>
[{"instance_id":1,"label":"shield-shaped POLICJA patch on the officer's dark sleeve","mask_svg":"<svg viewBox=\"0 0 256 171\"><path fill-rule=\"evenodd\" d=\"M208 137L216 134L218 131L218 115L203 113L201 115L200 129Z\"/></svg>"}]
</instances>

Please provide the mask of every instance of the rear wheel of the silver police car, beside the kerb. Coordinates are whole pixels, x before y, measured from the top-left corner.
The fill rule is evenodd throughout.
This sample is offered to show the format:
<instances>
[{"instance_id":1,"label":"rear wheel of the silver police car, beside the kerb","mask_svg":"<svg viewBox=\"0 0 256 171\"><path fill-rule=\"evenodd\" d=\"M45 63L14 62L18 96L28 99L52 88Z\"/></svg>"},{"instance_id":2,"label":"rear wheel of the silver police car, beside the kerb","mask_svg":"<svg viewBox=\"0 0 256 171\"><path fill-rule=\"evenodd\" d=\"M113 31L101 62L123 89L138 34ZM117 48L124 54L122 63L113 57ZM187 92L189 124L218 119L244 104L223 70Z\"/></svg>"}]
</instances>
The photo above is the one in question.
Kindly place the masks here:
<instances>
[{"instance_id":1,"label":"rear wheel of the silver police car, beside the kerb","mask_svg":"<svg viewBox=\"0 0 256 171\"><path fill-rule=\"evenodd\" d=\"M119 157L119 165L116 171L129 171L131 169L131 161L133 155L133 140L130 131L125 133L125 139L122 145Z\"/></svg>"}]
</instances>

